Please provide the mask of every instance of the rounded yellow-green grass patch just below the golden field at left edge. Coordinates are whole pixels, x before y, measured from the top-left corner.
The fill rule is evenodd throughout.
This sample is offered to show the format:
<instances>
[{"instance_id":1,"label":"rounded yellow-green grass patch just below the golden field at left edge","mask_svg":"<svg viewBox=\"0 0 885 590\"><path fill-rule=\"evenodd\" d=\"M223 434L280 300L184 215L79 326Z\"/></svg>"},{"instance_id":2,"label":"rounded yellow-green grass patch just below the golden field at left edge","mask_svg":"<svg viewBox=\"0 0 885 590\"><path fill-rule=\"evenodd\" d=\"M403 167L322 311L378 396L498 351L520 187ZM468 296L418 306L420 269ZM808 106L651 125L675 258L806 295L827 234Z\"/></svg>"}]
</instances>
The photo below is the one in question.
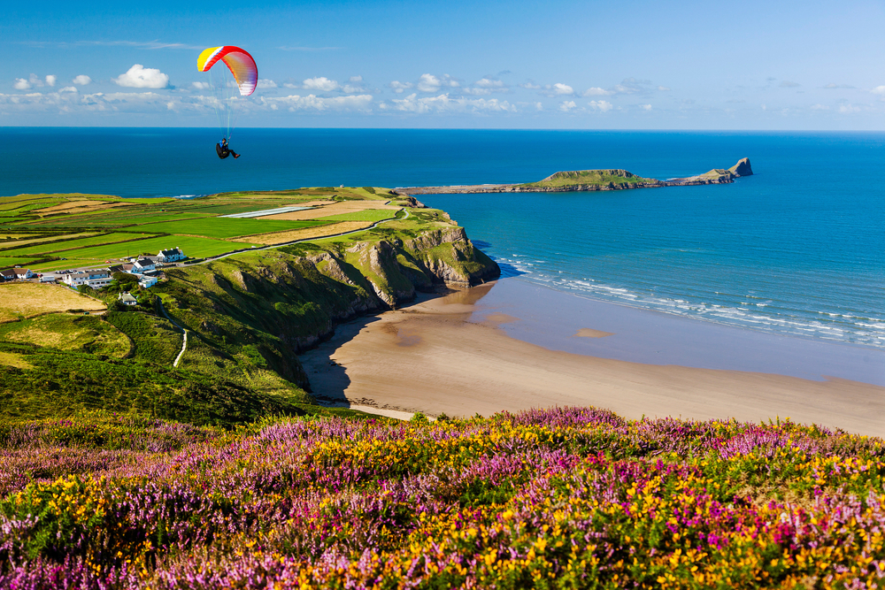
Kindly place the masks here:
<instances>
[{"instance_id":1,"label":"rounded yellow-green grass patch just below the golden field at left edge","mask_svg":"<svg viewBox=\"0 0 885 590\"><path fill-rule=\"evenodd\" d=\"M0 324L0 340L115 358L122 358L129 352L126 334L97 316L50 314Z\"/></svg>"}]
</instances>

